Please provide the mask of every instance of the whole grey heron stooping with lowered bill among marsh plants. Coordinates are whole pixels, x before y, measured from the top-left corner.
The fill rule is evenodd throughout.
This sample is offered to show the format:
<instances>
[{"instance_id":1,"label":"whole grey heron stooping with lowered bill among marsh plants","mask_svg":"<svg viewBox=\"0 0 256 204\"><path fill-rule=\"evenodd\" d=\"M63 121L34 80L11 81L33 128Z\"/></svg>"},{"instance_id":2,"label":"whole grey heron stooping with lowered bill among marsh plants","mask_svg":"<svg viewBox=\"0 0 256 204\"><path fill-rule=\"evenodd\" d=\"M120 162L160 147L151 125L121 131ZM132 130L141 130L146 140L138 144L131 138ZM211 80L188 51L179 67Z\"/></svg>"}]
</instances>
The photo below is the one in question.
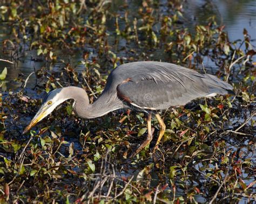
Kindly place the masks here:
<instances>
[{"instance_id":1,"label":"whole grey heron stooping with lowered bill among marsh plants","mask_svg":"<svg viewBox=\"0 0 256 204\"><path fill-rule=\"evenodd\" d=\"M84 89L65 87L53 90L43 100L42 107L25 128L27 132L49 115L60 103L73 99L73 109L79 117L96 118L117 109L137 109L147 113L147 138L132 154L136 155L152 140L151 114L156 115L160 131L154 150L165 132L163 119L157 110L184 105L198 97L233 94L233 87L210 74L166 62L141 61L120 65L110 73L98 99L90 104Z\"/></svg>"}]
</instances>

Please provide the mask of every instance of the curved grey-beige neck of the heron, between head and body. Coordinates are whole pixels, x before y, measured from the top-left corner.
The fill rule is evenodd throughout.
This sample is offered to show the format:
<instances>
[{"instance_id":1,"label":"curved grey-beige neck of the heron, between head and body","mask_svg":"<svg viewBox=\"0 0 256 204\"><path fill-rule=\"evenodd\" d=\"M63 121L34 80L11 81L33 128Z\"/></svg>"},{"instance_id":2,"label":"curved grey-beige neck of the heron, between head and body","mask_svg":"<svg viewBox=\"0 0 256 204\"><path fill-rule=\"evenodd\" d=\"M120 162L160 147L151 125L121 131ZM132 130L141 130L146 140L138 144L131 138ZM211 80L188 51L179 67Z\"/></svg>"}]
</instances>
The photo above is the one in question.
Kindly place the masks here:
<instances>
[{"instance_id":1,"label":"curved grey-beige neck of the heron, between head and body","mask_svg":"<svg viewBox=\"0 0 256 204\"><path fill-rule=\"evenodd\" d=\"M69 94L69 99L75 100L73 109L82 118L96 118L106 115L113 110L123 108L115 93L103 92L92 104L90 104L89 97L82 88L69 87L67 94Z\"/></svg>"}]
</instances>

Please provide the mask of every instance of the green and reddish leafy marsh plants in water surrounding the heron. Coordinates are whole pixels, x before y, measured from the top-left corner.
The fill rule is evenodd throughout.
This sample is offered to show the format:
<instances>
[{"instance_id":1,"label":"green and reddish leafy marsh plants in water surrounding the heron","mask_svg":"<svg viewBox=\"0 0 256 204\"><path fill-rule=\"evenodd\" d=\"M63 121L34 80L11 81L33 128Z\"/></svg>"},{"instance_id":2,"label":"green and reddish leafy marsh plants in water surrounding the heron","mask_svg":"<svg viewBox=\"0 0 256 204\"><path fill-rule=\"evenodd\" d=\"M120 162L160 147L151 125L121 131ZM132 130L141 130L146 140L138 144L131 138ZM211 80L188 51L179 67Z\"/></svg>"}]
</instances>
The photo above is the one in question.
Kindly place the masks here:
<instances>
[{"instance_id":1,"label":"green and reddish leafy marsh plants in water surrounding the heron","mask_svg":"<svg viewBox=\"0 0 256 204\"><path fill-rule=\"evenodd\" d=\"M1 203L255 201L256 52L250 33L244 29L241 39L230 41L215 16L187 29L184 1L127 2L2 1L0 24L8 37L1 55L15 67L29 59L40 68L9 82L5 69L0 78ZM113 68L139 60L217 75L234 86L235 96L162 112L166 132L156 154L155 136L129 158L146 134L143 113L80 119L72 101L22 135L50 90L83 87L93 101ZM21 88L7 90L6 83Z\"/></svg>"}]
</instances>

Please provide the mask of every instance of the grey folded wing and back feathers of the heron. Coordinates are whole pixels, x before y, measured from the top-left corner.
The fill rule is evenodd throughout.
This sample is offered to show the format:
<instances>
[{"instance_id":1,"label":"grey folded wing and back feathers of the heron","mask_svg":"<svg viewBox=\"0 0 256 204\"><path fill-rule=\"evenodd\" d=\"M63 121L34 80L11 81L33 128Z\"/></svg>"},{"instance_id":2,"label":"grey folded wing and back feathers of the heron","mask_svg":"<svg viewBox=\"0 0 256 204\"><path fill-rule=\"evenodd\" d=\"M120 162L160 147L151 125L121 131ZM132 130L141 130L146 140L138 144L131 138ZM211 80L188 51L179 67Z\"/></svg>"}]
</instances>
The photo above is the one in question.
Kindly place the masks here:
<instances>
[{"instance_id":1,"label":"grey folded wing and back feathers of the heron","mask_svg":"<svg viewBox=\"0 0 256 204\"><path fill-rule=\"evenodd\" d=\"M139 108L166 109L184 105L212 93L207 86L207 80L210 80L215 87L218 87L217 83L221 81L218 78L212 80L207 75L165 62L129 64L125 64L129 65L126 70L121 69L120 66L121 68L112 77L115 74L122 75L123 81L119 80L116 87L118 97Z\"/></svg>"}]
</instances>

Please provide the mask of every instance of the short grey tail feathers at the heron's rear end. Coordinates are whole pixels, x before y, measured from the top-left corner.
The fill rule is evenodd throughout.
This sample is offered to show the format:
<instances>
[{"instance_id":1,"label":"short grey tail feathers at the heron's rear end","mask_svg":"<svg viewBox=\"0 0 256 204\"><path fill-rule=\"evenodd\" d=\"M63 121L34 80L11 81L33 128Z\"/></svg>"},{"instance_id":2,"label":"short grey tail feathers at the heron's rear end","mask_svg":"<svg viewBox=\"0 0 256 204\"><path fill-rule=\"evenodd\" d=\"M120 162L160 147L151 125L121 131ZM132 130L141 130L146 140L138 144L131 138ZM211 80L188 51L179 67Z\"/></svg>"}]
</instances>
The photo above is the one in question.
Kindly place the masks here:
<instances>
[{"instance_id":1,"label":"short grey tail feathers at the heron's rear end","mask_svg":"<svg viewBox=\"0 0 256 204\"><path fill-rule=\"evenodd\" d=\"M211 74L204 74L204 76L205 78L203 79L203 81L206 83L209 89L209 94L235 94L233 92L233 87L229 83L217 78L217 76L213 76Z\"/></svg>"}]
</instances>

